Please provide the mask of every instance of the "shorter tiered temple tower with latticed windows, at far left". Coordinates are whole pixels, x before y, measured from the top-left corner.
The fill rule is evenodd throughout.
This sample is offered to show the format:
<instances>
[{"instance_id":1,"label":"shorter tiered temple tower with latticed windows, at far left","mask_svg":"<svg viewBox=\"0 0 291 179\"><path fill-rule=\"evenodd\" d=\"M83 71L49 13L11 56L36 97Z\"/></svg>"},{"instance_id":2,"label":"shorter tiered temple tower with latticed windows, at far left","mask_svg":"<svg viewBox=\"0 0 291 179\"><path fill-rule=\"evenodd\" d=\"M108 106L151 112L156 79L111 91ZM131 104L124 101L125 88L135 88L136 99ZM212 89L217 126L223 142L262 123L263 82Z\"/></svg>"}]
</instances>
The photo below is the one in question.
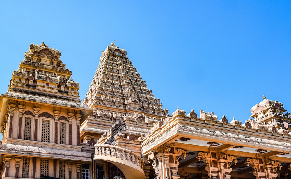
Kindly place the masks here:
<instances>
[{"instance_id":1,"label":"shorter tiered temple tower with latticed windows, at far left","mask_svg":"<svg viewBox=\"0 0 291 179\"><path fill-rule=\"evenodd\" d=\"M80 121L91 111L61 53L31 44L0 97L1 178L80 179L92 162L81 152Z\"/></svg>"}]
</instances>

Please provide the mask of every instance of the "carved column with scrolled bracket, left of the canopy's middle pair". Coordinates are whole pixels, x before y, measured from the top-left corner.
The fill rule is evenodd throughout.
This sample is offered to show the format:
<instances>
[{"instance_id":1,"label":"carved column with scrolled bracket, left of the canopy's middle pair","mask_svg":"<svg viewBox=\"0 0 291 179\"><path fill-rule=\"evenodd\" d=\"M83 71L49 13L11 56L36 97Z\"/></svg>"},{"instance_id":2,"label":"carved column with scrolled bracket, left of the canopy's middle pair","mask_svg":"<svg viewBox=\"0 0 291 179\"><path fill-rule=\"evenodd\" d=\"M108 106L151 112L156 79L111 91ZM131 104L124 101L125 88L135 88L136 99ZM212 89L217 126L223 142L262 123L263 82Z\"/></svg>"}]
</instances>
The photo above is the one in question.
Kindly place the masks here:
<instances>
[{"instance_id":1,"label":"carved column with scrolled bracket, left of the canopy's middle pair","mask_svg":"<svg viewBox=\"0 0 291 179\"><path fill-rule=\"evenodd\" d=\"M197 157L196 158L199 161L200 160L203 160L204 161L204 163L205 163L205 169L206 169L206 171L208 173L209 178L216 179L217 178L217 175L218 175L218 167L215 167L215 166L217 166L217 163L216 163L216 165L213 166L213 163L211 161L211 158L208 155L209 155L209 153L207 153L207 152L199 152L197 154ZM215 162L217 162L217 161L215 161Z\"/></svg>"}]
</instances>

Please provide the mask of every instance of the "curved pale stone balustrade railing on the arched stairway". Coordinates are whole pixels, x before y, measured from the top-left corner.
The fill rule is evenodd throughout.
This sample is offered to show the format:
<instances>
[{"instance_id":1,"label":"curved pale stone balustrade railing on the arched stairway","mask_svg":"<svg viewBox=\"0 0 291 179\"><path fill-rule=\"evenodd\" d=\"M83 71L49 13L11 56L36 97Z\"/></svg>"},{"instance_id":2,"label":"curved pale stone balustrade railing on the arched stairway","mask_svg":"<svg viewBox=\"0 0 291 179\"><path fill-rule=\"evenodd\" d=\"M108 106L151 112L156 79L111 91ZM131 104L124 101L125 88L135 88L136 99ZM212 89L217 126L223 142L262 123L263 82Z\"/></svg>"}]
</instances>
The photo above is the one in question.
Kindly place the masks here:
<instances>
[{"instance_id":1,"label":"curved pale stone balustrade railing on the arched stairway","mask_svg":"<svg viewBox=\"0 0 291 179\"><path fill-rule=\"evenodd\" d=\"M124 164L130 164L134 168L140 168L143 170L144 162L135 153L121 147L107 145L107 144L95 144L95 156L94 159L110 160L120 162Z\"/></svg>"}]
</instances>

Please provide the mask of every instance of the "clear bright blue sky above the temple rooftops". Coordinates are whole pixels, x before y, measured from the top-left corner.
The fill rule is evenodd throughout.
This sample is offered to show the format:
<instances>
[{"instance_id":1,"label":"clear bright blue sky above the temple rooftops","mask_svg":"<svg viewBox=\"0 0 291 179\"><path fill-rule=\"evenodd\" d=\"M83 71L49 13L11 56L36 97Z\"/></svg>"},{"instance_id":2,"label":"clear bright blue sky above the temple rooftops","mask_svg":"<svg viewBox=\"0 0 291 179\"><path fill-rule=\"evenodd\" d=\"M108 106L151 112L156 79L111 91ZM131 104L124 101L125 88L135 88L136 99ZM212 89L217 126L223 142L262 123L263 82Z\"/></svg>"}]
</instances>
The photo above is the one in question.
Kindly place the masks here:
<instances>
[{"instance_id":1,"label":"clear bright blue sky above the temple rooftops","mask_svg":"<svg viewBox=\"0 0 291 179\"><path fill-rule=\"evenodd\" d=\"M85 98L111 41L170 113L249 119L267 99L291 111L291 1L1 1L1 86L31 43L61 51Z\"/></svg>"}]
</instances>

